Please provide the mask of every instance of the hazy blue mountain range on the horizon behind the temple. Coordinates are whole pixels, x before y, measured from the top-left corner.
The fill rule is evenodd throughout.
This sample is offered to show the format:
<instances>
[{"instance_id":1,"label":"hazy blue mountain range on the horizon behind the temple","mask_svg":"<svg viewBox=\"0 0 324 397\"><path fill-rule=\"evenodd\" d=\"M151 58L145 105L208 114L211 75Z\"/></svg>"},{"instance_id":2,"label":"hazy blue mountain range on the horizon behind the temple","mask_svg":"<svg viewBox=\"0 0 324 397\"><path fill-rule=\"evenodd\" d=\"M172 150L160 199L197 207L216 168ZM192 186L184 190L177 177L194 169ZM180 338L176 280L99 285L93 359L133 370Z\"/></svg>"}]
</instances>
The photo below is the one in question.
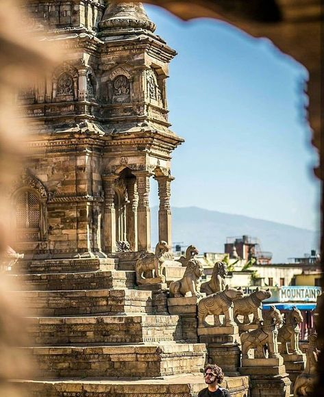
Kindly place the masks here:
<instances>
[{"instance_id":1,"label":"hazy blue mountain range on the horizon behind the temple","mask_svg":"<svg viewBox=\"0 0 324 397\"><path fill-rule=\"evenodd\" d=\"M273 253L273 263L303 257L319 247L319 233L282 223L225 214L198 207L173 207L173 242L197 246L200 253L224 252L227 237L259 238L262 251ZM158 241L158 207L151 209L152 246Z\"/></svg>"}]
</instances>

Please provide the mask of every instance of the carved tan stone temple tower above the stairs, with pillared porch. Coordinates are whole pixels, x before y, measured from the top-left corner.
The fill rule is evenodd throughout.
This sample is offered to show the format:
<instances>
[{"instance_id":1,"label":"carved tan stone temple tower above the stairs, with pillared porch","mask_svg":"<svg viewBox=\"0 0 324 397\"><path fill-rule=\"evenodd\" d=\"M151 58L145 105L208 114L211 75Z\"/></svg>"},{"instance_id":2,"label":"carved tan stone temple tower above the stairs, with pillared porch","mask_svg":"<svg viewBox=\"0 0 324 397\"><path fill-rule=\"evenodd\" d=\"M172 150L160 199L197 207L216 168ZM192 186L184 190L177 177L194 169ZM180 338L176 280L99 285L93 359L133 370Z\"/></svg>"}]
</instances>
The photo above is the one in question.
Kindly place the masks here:
<instances>
[{"instance_id":1,"label":"carved tan stone temple tower above the stairs, with pillared porch","mask_svg":"<svg viewBox=\"0 0 324 397\"><path fill-rule=\"evenodd\" d=\"M15 186L16 251L34 258L149 250L150 180L159 238L171 244L168 65L175 51L140 3L28 1L36 34L62 64L21 93L32 119L27 167Z\"/></svg>"}]
</instances>

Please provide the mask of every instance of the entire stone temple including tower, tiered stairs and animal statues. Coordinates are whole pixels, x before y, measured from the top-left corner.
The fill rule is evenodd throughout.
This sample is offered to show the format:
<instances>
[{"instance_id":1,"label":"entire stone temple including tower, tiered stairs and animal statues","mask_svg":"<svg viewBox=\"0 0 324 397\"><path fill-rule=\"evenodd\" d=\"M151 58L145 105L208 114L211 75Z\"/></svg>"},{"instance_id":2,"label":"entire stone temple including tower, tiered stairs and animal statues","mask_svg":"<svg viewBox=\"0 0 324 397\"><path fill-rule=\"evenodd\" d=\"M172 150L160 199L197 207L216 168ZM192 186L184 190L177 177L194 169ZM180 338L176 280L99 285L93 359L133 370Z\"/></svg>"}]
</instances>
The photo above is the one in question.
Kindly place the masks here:
<instances>
[{"instance_id":1,"label":"entire stone temple including tower, tiered stairs and animal statues","mask_svg":"<svg viewBox=\"0 0 324 397\"><path fill-rule=\"evenodd\" d=\"M8 277L21 286L13 294L27 306L25 350L36 369L19 384L33 397L189 397L205 387L201 370L212 362L233 397L290 396L290 381L303 370L300 382L308 380L312 367L297 345L279 354L279 311L261 321L269 292L242 298L247 322L236 323L242 292L225 287L224 266L215 264L205 297L195 246L179 261L169 249L171 154L184 142L166 102L175 51L141 3L29 0L25 12L45 46L60 45L62 63L19 94L32 132L12 223L13 248L25 257Z\"/></svg>"}]
</instances>

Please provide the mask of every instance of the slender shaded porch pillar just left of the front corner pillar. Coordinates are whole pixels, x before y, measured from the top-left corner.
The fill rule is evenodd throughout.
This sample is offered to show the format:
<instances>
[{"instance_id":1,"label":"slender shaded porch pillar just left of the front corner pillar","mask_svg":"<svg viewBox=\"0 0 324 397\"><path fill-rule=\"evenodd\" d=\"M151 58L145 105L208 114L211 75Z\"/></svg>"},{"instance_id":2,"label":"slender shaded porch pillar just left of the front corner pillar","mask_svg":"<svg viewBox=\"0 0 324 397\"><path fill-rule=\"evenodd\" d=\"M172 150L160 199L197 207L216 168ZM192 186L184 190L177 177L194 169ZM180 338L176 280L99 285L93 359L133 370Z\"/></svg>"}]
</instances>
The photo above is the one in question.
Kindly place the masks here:
<instances>
[{"instance_id":1,"label":"slender shaded porch pillar just left of the front corner pillar","mask_svg":"<svg viewBox=\"0 0 324 397\"><path fill-rule=\"evenodd\" d=\"M137 207L138 192L136 179L129 179L127 182L128 208L127 208L127 241L132 251L138 251L138 231L137 231Z\"/></svg>"}]
</instances>

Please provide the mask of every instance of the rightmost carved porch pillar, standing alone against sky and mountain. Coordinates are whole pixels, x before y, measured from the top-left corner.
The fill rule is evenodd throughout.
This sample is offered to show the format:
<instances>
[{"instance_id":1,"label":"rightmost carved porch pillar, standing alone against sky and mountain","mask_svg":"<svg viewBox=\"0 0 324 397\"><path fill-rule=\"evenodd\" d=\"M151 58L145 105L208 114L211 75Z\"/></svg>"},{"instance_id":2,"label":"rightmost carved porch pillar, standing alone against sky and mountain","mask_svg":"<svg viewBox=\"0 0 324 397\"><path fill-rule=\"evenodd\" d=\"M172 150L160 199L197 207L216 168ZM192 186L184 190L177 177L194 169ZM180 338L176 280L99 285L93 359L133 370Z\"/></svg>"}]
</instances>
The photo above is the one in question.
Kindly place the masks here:
<instances>
[{"instance_id":1,"label":"rightmost carved porch pillar, standing alone against sky and mountain","mask_svg":"<svg viewBox=\"0 0 324 397\"><path fill-rule=\"evenodd\" d=\"M154 177L158 181L160 207L159 207L159 240L164 240L172 246L171 236L171 181L173 177L158 176Z\"/></svg>"}]
</instances>

